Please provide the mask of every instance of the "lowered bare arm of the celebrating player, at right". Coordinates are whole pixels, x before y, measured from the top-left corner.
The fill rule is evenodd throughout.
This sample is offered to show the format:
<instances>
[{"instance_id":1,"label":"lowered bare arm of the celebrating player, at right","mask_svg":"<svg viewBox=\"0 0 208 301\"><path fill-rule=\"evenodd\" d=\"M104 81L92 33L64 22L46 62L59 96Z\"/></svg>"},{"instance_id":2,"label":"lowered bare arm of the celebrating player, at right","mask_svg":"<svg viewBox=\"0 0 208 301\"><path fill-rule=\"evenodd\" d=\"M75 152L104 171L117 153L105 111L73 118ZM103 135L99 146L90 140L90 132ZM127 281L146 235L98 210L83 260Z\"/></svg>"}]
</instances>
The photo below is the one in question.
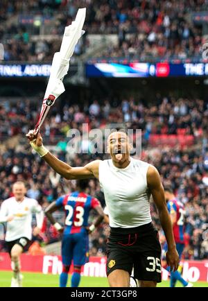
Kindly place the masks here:
<instances>
[{"instance_id":1,"label":"lowered bare arm of the celebrating player, at right","mask_svg":"<svg viewBox=\"0 0 208 301\"><path fill-rule=\"evenodd\" d=\"M171 270L177 270L179 265L179 257L175 247L175 240L173 236L173 227L171 218L168 214L166 200L164 196L164 188L160 180L159 173L154 166L149 166L147 173L147 182L150 192L152 193L153 200L157 206L159 221L164 230L166 241L168 244L168 252L166 252L166 261Z\"/></svg>"}]
</instances>

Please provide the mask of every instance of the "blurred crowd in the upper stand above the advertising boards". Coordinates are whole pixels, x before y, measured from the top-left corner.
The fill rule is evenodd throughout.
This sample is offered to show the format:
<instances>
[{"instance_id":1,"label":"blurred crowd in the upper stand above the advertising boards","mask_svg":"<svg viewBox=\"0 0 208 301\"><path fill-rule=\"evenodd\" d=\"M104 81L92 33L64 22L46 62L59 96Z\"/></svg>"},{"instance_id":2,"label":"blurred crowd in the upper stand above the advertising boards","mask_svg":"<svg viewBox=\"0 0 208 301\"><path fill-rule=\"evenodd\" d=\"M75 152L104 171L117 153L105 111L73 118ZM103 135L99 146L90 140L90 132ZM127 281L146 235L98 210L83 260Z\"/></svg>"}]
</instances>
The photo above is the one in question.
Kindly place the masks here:
<instances>
[{"instance_id":1,"label":"blurred crowd in the upper stand above the advertising boards","mask_svg":"<svg viewBox=\"0 0 208 301\"><path fill-rule=\"evenodd\" d=\"M202 57L202 26L193 22L191 12L205 10L206 0L2 0L0 40L4 41L5 60L51 62L60 38L34 41L32 36L47 24L35 23L35 17L49 17L46 33L61 37L81 7L87 7L87 33L117 35L118 44L99 53L103 58L150 61ZM21 15L33 16L31 23L35 25L19 23ZM87 33L76 47L76 55L89 46Z\"/></svg>"}]
</instances>

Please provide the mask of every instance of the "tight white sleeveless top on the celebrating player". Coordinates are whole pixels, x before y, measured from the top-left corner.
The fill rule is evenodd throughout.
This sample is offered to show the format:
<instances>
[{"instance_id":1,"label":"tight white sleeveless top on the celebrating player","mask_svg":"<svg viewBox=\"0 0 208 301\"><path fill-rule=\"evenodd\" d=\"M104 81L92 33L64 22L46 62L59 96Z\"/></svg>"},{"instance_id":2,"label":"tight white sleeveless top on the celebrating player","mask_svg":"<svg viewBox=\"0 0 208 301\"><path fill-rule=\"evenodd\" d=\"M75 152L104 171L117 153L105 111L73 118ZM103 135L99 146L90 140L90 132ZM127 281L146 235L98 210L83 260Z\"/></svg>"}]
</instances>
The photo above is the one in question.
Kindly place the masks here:
<instances>
[{"instance_id":1,"label":"tight white sleeveless top on the celebrating player","mask_svg":"<svg viewBox=\"0 0 208 301\"><path fill-rule=\"evenodd\" d=\"M150 164L130 158L125 169L112 160L99 164L99 181L105 195L111 227L139 227L152 221L146 173Z\"/></svg>"}]
</instances>

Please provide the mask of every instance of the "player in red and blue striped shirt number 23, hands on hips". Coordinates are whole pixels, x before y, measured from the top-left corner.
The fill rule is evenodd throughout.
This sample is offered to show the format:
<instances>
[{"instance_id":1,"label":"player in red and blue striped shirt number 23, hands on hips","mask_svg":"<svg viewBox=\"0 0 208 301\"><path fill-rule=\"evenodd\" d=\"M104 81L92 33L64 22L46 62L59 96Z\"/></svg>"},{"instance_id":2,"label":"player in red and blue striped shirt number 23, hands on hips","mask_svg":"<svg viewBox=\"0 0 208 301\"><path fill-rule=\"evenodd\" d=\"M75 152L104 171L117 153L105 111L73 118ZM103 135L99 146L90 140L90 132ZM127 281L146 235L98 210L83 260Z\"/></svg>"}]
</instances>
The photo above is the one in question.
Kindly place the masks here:
<instances>
[{"instance_id":1,"label":"player in red and blue striped shirt number 23, hands on hips","mask_svg":"<svg viewBox=\"0 0 208 301\"><path fill-rule=\"evenodd\" d=\"M85 193L89 180L77 180L76 191L61 196L45 209L45 214L54 227L63 232L62 236L62 264L60 287L67 286L67 279L71 261L73 260L73 274L71 287L78 287L80 283L81 267L87 262L90 234L103 221L104 213L96 198ZM64 207L66 218L64 228L55 222L52 213ZM95 209L98 213L96 221L89 226L89 211Z\"/></svg>"}]
</instances>

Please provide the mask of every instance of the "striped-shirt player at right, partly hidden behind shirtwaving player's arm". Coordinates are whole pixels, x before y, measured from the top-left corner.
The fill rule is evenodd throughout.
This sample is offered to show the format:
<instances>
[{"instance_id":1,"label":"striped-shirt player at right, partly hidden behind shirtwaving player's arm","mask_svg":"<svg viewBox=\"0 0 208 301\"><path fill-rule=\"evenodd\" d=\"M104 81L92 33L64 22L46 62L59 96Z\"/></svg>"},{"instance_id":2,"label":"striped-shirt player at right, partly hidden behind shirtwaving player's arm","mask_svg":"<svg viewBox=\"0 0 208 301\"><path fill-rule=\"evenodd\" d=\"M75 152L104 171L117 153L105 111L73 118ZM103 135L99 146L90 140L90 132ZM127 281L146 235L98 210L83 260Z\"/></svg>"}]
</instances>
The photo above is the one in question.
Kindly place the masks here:
<instances>
[{"instance_id":1,"label":"striped-shirt player at right, partly hidden behind shirtwaving player's arm","mask_svg":"<svg viewBox=\"0 0 208 301\"><path fill-rule=\"evenodd\" d=\"M179 258L182 257L182 252L184 250L184 216L185 209L184 205L175 198L173 189L171 187L166 187L164 189L164 194L167 202L168 212L171 216L171 222L173 225L173 236L176 243L176 249L179 255ZM164 250L167 250L167 246L164 246ZM175 283L179 280L183 286L191 287L193 284L187 282L180 273L176 270L175 272L171 271L171 283L170 286L174 287Z\"/></svg>"}]
</instances>

